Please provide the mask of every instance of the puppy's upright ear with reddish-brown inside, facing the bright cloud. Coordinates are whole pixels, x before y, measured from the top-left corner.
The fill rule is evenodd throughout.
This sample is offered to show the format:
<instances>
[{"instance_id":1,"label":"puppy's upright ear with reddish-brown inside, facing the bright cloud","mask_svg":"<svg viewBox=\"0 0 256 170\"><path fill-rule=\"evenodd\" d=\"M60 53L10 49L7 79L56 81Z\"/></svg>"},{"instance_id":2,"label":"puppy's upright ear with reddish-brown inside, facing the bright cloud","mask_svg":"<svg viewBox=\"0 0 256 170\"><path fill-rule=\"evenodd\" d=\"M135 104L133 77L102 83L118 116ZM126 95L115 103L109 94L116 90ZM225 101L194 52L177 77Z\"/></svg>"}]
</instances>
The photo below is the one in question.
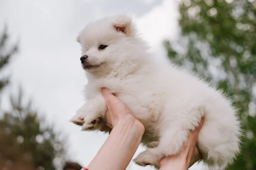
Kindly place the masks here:
<instances>
[{"instance_id":1,"label":"puppy's upright ear with reddish-brown inside, facing the bright cloud","mask_svg":"<svg viewBox=\"0 0 256 170\"><path fill-rule=\"evenodd\" d=\"M125 15L120 15L115 18L113 28L117 32L124 33L127 37L134 37L136 33L131 17Z\"/></svg>"}]
</instances>

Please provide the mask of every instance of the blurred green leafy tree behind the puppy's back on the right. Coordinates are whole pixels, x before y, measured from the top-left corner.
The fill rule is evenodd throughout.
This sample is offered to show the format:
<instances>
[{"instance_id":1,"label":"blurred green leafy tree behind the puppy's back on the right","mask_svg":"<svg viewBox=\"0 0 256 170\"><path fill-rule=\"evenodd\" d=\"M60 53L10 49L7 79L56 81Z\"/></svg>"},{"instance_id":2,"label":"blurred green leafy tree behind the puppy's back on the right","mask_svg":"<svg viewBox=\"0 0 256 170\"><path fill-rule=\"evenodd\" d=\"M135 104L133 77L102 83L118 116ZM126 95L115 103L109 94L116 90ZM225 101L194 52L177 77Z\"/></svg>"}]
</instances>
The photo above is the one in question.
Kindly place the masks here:
<instances>
[{"instance_id":1,"label":"blurred green leafy tree behind the puppy's back on the right","mask_svg":"<svg viewBox=\"0 0 256 170\"><path fill-rule=\"evenodd\" d=\"M179 11L181 37L178 43L164 43L168 56L233 99L245 135L242 153L229 169L255 170L256 1L183 0Z\"/></svg>"}]
</instances>

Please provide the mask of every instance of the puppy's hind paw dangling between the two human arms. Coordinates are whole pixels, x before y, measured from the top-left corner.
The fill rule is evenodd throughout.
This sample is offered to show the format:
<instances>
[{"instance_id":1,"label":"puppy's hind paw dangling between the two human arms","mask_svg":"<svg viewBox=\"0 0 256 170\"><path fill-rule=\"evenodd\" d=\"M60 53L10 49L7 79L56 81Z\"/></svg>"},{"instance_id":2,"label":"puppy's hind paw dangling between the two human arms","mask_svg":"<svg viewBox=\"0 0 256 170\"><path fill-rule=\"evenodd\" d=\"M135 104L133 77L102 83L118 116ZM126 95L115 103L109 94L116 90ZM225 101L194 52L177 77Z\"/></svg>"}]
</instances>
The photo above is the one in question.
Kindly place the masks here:
<instances>
[{"instance_id":1,"label":"puppy's hind paw dangling between the two human arms","mask_svg":"<svg viewBox=\"0 0 256 170\"><path fill-rule=\"evenodd\" d=\"M140 153L133 161L143 167L151 165L159 169L159 163L162 158L163 156L155 153L155 148L152 148Z\"/></svg>"}]
</instances>

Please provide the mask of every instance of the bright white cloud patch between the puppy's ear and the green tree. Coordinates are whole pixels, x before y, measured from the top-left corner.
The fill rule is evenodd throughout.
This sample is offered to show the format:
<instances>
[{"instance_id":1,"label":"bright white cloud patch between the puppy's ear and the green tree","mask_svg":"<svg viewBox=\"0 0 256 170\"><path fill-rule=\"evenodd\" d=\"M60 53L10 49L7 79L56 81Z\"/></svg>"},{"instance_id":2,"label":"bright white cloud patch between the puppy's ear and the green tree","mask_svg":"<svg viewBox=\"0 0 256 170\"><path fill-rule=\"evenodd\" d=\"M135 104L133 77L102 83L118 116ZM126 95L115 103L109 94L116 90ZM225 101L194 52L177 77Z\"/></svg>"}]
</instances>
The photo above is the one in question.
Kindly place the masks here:
<instances>
[{"instance_id":1,"label":"bright white cloud patch between the puppy's ear and the green tree","mask_svg":"<svg viewBox=\"0 0 256 170\"><path fill-rule=\"evenodd\" d=\"M175 39L178 33L178 11L175 1L164 0L137 19L143 39L154 48L162 45L163 40ZM154 48L154 50L156 50Z\"/></svg>"}]
</instances>

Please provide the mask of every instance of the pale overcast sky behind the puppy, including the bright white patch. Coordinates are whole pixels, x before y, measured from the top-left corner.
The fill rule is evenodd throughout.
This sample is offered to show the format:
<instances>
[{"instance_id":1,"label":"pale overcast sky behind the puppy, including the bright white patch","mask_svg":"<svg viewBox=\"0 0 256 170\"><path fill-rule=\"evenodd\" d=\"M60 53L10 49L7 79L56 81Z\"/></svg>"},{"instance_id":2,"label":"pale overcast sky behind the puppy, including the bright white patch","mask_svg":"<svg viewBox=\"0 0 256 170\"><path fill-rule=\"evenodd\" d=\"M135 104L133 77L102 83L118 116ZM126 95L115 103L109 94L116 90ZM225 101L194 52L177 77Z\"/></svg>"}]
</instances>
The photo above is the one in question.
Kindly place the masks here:
<instances>
[{"instance_id":1,"label":"pale overcast sky behind the puppy, including the bright white patch","mask_svg":"<svg viewBox=\"0 0 256 170\"><path fill-rule=\"evenodd\" d=\"M107 135L81 132L68 122L84 103L81 92L87 83L76 36L91 21L124 13L134 16L152 52L166 57L163 40L175 40L179 34L175 0L0 0L0 30L6 23L13 40L20 40L20 52L8 70L12 85L2 107L8 107L7 95L21 84L41 116L68 136L69 156L83 166L93 159ZM143 150L140 147L135 156ZM128 169L152 168L131 163Z\"/></svg>"}]
</instances>

